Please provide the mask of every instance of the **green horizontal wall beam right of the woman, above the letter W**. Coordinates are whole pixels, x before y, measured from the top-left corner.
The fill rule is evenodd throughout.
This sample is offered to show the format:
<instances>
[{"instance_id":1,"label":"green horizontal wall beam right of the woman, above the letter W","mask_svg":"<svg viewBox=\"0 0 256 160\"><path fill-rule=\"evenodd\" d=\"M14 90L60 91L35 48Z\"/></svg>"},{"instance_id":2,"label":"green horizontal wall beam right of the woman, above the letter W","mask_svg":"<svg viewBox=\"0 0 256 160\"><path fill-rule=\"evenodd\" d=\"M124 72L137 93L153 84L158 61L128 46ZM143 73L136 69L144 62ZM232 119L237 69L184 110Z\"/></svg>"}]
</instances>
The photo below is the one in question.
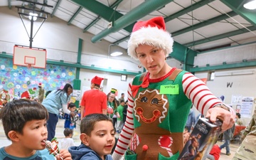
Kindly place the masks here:
<instances>
[{"instance_id":1,"label":"green horizontal wall beam right of the woman, above the letter W","mask_svg":"<svg viewBox=\"0 0 256 160\"><path fill-rule=\"evenodd\" d=\"M208 70L225 70L225 69L233 69L233 68L247 68L247 67L255 67L256 66L256 60L255 61L246 61L241 63L233 63L233 64L225 64L224 65L213 65L213 66L206 66L206 67L196 67L191 68L190 72L202 72L202 71L208 71Z\"/></svg>"}]
</instances>

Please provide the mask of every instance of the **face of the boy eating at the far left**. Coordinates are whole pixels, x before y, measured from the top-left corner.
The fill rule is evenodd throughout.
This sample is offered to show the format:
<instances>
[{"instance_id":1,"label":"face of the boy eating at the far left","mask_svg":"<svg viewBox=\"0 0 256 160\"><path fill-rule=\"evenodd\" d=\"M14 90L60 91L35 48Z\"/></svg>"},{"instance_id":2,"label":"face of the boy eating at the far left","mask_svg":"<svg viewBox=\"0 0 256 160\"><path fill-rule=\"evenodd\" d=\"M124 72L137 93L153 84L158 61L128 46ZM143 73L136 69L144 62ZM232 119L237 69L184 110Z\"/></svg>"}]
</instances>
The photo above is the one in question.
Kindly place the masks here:
<instances>
[{"instance_id":1,"label":"face of the boy eating at the far left","mask_svg":"<svg viewBox=\"0 0 256 160\"><path fill-rule=\"evenodd\" d=\"M46 119L31 120L23 127L23 134L17 134L18 143L24 151L41 150L46 148L44 140L47 140Z\"/></svg>"}]
</instances>

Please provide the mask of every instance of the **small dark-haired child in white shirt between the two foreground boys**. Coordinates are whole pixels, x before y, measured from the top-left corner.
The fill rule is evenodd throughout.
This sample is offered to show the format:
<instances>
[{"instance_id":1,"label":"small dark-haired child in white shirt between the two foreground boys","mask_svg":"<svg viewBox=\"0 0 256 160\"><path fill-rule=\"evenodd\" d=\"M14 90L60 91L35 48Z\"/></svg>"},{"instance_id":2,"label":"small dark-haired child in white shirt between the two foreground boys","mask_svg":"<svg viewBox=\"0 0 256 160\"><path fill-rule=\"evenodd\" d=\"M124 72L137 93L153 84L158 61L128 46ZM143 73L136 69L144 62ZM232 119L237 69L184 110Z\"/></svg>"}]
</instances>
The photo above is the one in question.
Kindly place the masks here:
<instances>
[{"instance_id":1,"label":"small dark-haired child in white shirt between the two foreground boys","mask_svg":"<svg viewBox=\"0 0 256 160\"><path fill-rule=\"evenodd\" d=\"M73 129L65 128L63 134L65 135L64 139L61 139L61 148L68 149L70 146L75 146L73 137Z\"/></svg>"}]
</instances>

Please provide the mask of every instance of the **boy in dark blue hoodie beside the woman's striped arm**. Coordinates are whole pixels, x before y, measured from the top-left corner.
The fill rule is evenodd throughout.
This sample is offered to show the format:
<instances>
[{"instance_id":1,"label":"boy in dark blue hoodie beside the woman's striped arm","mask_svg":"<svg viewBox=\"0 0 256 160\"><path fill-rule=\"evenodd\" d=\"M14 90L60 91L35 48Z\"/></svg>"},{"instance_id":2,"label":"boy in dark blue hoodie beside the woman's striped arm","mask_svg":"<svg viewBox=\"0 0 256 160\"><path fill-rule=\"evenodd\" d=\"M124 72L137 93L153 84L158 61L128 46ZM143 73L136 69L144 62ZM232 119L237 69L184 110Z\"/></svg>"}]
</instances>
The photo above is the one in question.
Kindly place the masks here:
<instances>
[{"instance_id":1,"label":"boy in dark blue hoodie beside the woman's striped arm","mask_svg":"<svg viewBox=\"0 0 256 160\"><path fill-rule=\"evenodd\" d=\"M80 124L80 146L71 146L73 160L98 159L112 160L110 155L114 146L114 127L105 114L88 114Z\"/></svg>"}]
</instances>

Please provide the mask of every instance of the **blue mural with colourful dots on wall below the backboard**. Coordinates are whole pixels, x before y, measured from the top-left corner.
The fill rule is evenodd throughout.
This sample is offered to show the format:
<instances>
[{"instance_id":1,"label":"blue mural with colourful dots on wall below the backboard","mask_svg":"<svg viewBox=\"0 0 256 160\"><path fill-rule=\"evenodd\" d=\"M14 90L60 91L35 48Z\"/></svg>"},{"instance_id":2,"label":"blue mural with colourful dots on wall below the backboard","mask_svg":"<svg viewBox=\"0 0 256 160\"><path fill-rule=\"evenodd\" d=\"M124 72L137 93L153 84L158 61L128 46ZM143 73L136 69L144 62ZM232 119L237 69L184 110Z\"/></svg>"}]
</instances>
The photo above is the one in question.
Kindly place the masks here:
<instances>
[{"instance_id":1,"label":"blue mural with colourful dots on wall below the backboard","mask_svg":"<svg viewBox=\"0 0 256 160\"><path fill-rule=\"evenodd\" d=\"M31 97L38 95L38 83L45 92L63 88L66 83L73 85L75 68L60 65L46 65L46 69L27 68L13 65L11 58L0 58L0 92L8 90L10 100L21 98L24 92Z\"/></svg>"}]
</instances>

